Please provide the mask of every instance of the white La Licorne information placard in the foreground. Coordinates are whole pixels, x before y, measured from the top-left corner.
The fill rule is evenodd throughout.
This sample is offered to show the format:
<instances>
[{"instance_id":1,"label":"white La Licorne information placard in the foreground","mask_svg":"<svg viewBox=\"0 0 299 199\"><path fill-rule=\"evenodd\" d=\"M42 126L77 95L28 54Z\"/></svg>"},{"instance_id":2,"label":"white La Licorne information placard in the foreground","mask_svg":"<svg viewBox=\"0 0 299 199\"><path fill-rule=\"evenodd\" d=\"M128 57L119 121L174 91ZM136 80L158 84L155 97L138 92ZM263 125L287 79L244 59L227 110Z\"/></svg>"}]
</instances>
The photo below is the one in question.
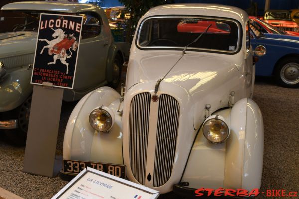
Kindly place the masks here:
<instances>
[{"instance_id":1,"label":"white La Licorne information placard in the foreground","mask_svg":"<svg viewBox=\"0 0 299 199\"><path fill-rule=\"evenodd\" d=\"M159 192L87 167L52 199L156 199Z\"/></svg>"}]
</instances>

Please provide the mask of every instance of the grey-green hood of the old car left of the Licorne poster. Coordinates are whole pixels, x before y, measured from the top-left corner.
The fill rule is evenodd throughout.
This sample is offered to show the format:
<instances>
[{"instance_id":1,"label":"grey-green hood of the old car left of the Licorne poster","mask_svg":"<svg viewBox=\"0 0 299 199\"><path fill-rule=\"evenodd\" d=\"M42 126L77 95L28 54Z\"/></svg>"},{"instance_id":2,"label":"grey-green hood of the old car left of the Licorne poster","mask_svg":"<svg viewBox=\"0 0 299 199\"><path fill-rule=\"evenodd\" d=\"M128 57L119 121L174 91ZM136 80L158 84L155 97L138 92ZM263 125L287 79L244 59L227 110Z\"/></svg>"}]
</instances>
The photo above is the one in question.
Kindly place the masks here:
<instances>
[{"instance_id":1,"label":"grey-green hood of the old car left of the Licorne poster","mask_svg":"<svg viewBox=\"0 0 299 199\"><path fill-rule=\"evenodd\" d=\"M7 32L0 34L0 59L35 52L37 32Z\"/></svg>"}]
</instances>

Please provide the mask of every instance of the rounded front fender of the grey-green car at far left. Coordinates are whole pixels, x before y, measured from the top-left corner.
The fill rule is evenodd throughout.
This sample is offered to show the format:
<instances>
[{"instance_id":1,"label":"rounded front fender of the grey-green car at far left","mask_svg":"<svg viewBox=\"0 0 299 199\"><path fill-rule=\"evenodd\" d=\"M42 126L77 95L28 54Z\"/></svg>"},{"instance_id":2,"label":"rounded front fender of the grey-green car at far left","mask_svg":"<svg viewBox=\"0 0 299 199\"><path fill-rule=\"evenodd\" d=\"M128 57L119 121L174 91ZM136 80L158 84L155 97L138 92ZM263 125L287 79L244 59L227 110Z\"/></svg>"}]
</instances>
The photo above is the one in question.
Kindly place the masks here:
<instances>
[{"instance_id":1,"label":"rounded front fender of the grey-green car at far left","mask_svg":"<svg viewBox=\"0 0 299 199\"><path fill-rule=\"evenodd\" d=\"M30 84L32 69L28 66L9 71L0 83L0 112L10 111L20 106L32 93Z\"/></svg>"}]
</instances>

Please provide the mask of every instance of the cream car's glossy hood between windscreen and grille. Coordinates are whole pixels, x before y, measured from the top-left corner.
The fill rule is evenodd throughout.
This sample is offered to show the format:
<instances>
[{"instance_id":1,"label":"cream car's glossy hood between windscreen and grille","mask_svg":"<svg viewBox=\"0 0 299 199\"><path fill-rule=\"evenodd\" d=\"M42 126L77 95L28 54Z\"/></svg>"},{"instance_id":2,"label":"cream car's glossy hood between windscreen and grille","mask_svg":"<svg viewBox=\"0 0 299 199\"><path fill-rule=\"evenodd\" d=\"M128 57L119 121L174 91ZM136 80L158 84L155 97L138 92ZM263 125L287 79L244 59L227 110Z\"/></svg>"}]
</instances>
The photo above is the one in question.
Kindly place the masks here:
<instances>
[{"instance_id":1,"label":"cream car's glossy hood between windscreen and grille","mask_svg":"<svg viewBox=\"0 0 299 199\"><path fill-rule=\"evenodd\" d=\"M206 53L213 54L214 53ZM157 81L166 77L162 82L169 82L183 87L191 95L199 89L207 89L229 82L238 77L238 67L241 63L233 64L233 55L215 56L185 54L149 54L140 59L130 60L128 68L127 86L134 84ZM230 57L230 59L224 59ZM173 68L172 68L173 67ZM171 69L172 68L172 69ZM232 85L234 86L234 85ZM153 88L154 89L154 88ZM228 89L229 90L229 89Z\"/></svg>"}]
</instances>

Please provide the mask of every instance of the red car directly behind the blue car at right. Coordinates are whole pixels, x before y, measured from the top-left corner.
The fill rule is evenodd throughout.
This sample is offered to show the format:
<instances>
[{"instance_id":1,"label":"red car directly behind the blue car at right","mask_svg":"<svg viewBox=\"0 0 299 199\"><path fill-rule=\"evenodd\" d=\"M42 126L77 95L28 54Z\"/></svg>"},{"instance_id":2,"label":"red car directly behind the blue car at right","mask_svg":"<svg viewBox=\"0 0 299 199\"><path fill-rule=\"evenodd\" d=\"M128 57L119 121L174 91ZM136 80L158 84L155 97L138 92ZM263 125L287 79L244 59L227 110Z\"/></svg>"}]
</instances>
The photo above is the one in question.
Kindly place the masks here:
<instances>
[{"instance_id":1,"label":"red car directly behind the blue car at right","mask_svg":"<svg viewBox=\"0 0 299 199\"><path fill-rule=\"evenodd\" d=\"M262 33L271 33L271 34L287 34L290 36L299 36L299 32L293 31L282 31L277 27L270 25L269 23L255 17L249 16L250 23L257 28Z\"/></svg>"}]
</instances>

